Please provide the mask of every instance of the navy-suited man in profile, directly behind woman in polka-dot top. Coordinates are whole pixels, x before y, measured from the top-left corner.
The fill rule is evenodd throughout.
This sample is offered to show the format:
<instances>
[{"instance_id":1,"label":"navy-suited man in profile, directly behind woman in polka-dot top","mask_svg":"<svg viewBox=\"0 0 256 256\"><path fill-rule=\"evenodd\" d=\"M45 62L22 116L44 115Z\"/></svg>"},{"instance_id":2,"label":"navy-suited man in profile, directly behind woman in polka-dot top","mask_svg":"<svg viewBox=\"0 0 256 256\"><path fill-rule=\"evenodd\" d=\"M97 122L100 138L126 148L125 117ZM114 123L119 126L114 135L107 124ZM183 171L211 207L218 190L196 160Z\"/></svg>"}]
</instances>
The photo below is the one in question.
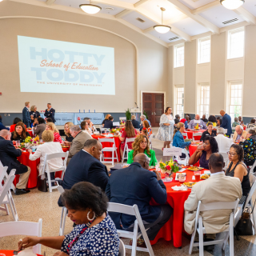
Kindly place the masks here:
<instances>
[{"instance_id":1,"label":"navy-suited man in profile, directly behind woman in polka-dot top","mask_svg":"<svg viewBox=\"0 0 256 256\"><path fill-rule=\"evenodd\" d=\"M88 139L83 149L74 155L66 167L63 189L70 190L78 182L90 182L105 191L109 175L106 166L99 161L101 154L102 144L97 139ZM62 206L61 198L58 199L58 206Z\"/></svg>"}]
</instances>

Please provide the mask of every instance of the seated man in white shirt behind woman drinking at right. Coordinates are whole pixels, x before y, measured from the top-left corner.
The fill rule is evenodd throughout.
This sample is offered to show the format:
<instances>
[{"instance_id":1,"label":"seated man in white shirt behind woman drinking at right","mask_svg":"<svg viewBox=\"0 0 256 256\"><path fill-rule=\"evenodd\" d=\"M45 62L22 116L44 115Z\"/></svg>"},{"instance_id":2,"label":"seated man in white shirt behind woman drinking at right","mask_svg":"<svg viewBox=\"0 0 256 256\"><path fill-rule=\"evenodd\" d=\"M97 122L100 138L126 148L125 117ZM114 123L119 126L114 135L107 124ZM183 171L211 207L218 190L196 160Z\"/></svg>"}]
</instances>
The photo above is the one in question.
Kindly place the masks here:
<instances>
[{"instance_id":1,"label":"seated man in white shirt behind woman drinking at right","mask_svg":"<svg viewBox=\"0 0 256 256\"><path fill-rule=\"evenodd\" d=\"M218 152L222 154L225 162L225 169L229 163L229 156L227 152L230 151L230 146L232 145L232 139L225 136L225 129L220 127L217 129L217 136L214 137L218 143Z\"/></svg>"}]
</instances>

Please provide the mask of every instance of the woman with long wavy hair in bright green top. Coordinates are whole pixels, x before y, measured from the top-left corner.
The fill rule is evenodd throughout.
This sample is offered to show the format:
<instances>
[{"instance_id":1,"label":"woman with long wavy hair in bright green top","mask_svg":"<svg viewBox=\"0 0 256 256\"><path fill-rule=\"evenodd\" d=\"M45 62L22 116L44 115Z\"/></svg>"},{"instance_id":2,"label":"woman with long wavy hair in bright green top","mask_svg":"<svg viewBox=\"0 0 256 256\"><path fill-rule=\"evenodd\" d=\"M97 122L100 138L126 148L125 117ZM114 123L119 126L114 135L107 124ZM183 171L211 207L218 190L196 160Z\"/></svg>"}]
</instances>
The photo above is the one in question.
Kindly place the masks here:
<instances>
[{"instance_id":1,"label":"woman with long wavy hair in bright green top","mask_svg":"<svg viewBox=\"0 0 256 256\"><path fill-rule=\"evenodd\" d=\"M155 166L158 163L157 158L155 157L154 150L150 150L149 140L145 135L139 135L135 138L133 143L133 150L128 154L127 163L134 162L134 157L138 153L144 153L150 158L150 166Z\"/></svg>"}]
</instances>

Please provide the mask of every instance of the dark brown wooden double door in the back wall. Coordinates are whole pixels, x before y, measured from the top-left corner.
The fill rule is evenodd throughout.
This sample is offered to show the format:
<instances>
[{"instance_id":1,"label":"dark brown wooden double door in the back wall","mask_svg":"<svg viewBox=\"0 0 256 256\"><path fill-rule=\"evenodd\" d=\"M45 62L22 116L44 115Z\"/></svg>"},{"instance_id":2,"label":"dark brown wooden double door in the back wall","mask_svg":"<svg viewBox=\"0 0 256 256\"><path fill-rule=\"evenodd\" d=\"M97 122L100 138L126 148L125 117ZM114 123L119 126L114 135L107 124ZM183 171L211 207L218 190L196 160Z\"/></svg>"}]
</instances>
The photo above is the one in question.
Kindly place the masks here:
<instances>
[{"instance_id":1,"label":"dark brown wooden double door in the back wall","mask_svg":"<svg viewBox=\"0 0 256 256\"><path fill-rule=\"evenodd\" d=\"M161 115L164 113L164 94L143 93L142 104L151 126L158 127Z\"/></svg>"}]
</instances>

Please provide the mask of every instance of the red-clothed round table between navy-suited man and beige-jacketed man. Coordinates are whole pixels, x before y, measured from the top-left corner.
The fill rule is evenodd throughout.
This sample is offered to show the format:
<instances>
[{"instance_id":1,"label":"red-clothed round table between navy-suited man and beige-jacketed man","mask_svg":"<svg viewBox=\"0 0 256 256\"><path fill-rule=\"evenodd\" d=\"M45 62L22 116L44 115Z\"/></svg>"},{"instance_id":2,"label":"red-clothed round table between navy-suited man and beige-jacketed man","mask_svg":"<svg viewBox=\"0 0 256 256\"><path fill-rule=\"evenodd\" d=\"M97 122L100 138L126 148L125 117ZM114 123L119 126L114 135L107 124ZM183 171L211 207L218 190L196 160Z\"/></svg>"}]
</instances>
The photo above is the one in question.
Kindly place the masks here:
<instances>
[{"instance_id":1,"label":"red-clothed round table between navy-suited man and beige-jacketed man","mask_svg":"<svg viewBox=\"0 0 256 256\"><path fill-rule=\"evenodd\" d=\"M186 182L192 182L194 171L184 170L183 173L186 173ZM203 174L204 170L201 170L201 173ZM172 182L165 183L167 202L174 209L174 213L172 214L169 221L166 222L164 226L162 226L162 229L159 230L156 238L154 238L154 241L150 241L151 245L154 245L156 242L158 242L159 238L164 238L166 241L173 239L175 247L182 246L182 232L184 230L184 203L190 195L191 190L188 189L186 191L174 191L172 189L172 186L180 186L181 184L182 182L175 181L174 179ZM152 204L155 203L152 202Z\"/></svg>"}]
</instances>

